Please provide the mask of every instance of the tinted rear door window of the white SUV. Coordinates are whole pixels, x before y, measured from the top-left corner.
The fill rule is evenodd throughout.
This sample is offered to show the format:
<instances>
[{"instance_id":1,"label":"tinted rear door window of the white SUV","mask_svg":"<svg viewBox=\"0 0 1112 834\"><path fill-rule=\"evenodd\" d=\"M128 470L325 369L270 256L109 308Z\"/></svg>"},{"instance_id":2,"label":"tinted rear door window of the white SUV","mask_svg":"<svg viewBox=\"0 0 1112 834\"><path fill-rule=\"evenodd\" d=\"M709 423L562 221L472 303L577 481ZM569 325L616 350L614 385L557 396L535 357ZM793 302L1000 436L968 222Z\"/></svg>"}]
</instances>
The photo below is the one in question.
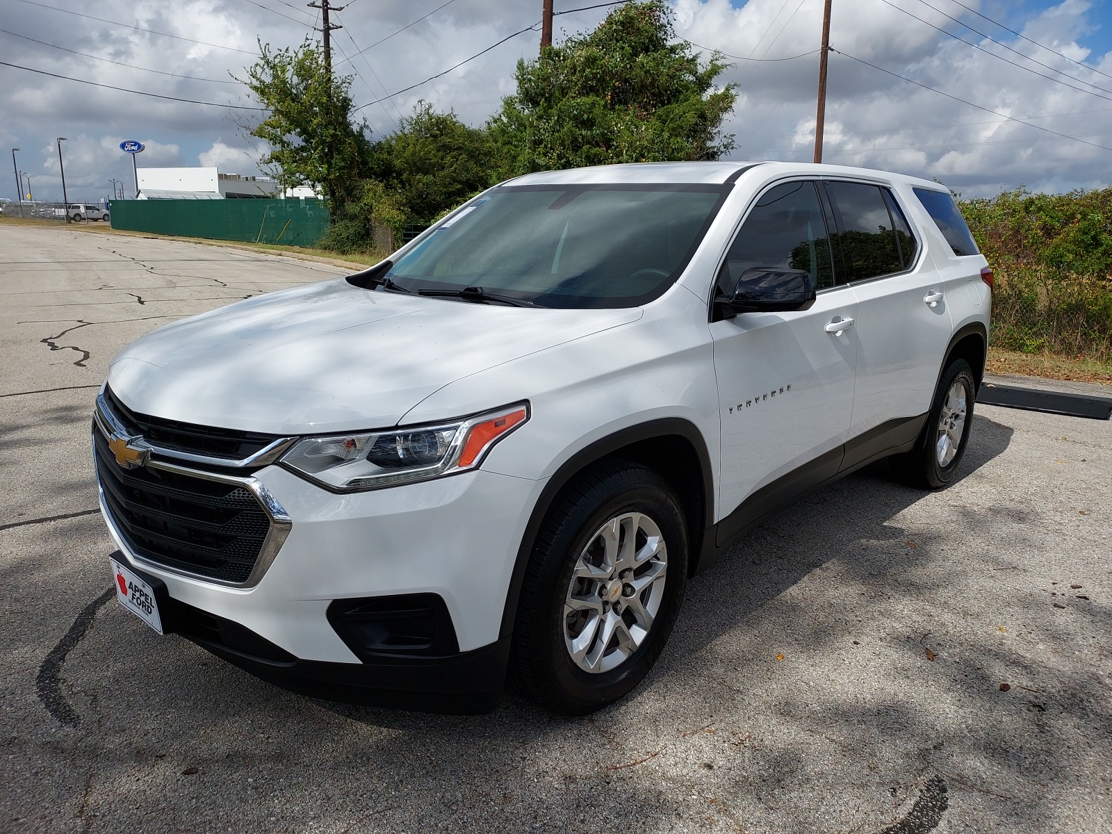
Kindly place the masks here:
<instances>
[{"instance_id":1,"label":"tinted rear door window of the white SUV","mask_svg":"<svg viewBox=\"0 0 1112 834\"><path fill-rule=\"evenodd\" d=\"M892 216L881 189L862 182L827 182L826 190L838 221L843 282L903 269Z\"/></svg>"}]
</instances>

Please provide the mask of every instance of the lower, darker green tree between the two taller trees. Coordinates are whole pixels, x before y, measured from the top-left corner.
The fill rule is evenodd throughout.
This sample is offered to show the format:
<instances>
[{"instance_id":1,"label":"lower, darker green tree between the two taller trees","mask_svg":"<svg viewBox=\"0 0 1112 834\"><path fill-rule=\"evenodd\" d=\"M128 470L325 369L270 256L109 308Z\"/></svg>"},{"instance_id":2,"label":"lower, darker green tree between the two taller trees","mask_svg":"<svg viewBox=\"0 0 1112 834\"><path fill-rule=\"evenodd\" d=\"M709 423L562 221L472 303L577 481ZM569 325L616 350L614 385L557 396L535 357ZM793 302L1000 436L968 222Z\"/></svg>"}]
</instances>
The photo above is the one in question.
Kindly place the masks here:
<instances>
[{"instance_id":1,"label":"lower, darker green tree between the two taller trees","mask_svg":"<svg viewBox=\"0 0 1112 834\"><path fill-rule=\"evenodd\" d=\"M409 222L430 224L497 181L497 156L486 130L420 101L396 133L375 145L371 176L386 186Z\"/></svg>"}]
</instances>

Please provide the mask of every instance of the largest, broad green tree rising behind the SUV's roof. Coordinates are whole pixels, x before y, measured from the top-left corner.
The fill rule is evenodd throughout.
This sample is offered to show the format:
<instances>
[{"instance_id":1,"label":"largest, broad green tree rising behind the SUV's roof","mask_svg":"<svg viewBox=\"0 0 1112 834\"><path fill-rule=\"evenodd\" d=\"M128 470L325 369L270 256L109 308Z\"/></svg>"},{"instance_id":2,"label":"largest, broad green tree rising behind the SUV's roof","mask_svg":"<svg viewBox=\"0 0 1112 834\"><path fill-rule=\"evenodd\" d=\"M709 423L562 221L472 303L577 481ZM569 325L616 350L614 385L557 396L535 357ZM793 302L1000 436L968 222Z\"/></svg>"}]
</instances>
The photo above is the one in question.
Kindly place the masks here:
<instances>
[{"instance_id":1,"label":"largest, broad green tree rising behind the SUV's roof","mask_svg":"<svg viewBox=\"0 0 1112 834\"><path fill-rule=\"evenodd\" d=\"M587 34L517 63L517 93L489 122L507 173L549 168L717 159L734 147L722 121L734 85L715 87L728 64L706 63L674 42L663 0L612 11Z\"/></svg>"}]
</instances>

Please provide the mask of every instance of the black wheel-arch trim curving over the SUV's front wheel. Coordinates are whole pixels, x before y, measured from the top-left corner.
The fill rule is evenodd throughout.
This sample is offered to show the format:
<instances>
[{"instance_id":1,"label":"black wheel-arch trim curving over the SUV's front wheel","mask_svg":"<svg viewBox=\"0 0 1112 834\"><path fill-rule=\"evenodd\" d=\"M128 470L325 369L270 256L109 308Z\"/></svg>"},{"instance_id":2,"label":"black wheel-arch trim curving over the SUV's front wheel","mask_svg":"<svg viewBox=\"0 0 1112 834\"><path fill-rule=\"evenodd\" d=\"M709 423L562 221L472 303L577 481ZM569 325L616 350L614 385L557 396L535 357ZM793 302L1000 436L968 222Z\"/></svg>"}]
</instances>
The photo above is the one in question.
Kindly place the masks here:
<instances>
[{"instance_id":1,"label":"black wheel-arch trim curving over the SUV's front wheel","mask_svg":"<svg viewBox=\"0 0 1112 834\"><path fill-rule=\"evenodd\" d=\"M557 469L556 473L548 479L544 490L542 490L540 497L537 499L537 503L533 508L533 514L529 516L529 522L525 527L525 535L522 536L522 543L518 546L517 560L514 564L514 574L510 577L509 590L506 594L506 607L502 616L502 629L498 633L499 637L505 637L514 631L514 620L517 616L517 600L520 596L522 582L525 578L525 569L533 555L533 547L536 543L537 534L540 532L540 525L544 523L545 516L548 515L548 510L552 508L553 502L559 495L560 490L585 468L606 457L615 455L615 453L620 449L634 446L635 444L645 440L663 440L666 438L678 438L686 441L691 445L698 458L702 484L696 485L696 489L698 489L702 494L682 494L696 492L682 490L678 495L679 499L684 503L685 515L687 516L688 524L692 528L689 529L692 538L692 557L695 560L698 559L699 553L705 549L703 539L709 537L713 540L714 537L713 469L711 466L711 455L707 451L706 441L703 439L702 433L693 423L677 417L649 420L648 423L642 423L637 426L631 426L629 428L622 429L613 435L602 438L600 440L596 440L589 446L585 446L579 449L579 451L572 455L572 457L564 461L559 469ZM615 455L615 457L620 458L622 456ZM698 524L693 524L695 520L697 520Z\"/></svg>"}]
</instances>

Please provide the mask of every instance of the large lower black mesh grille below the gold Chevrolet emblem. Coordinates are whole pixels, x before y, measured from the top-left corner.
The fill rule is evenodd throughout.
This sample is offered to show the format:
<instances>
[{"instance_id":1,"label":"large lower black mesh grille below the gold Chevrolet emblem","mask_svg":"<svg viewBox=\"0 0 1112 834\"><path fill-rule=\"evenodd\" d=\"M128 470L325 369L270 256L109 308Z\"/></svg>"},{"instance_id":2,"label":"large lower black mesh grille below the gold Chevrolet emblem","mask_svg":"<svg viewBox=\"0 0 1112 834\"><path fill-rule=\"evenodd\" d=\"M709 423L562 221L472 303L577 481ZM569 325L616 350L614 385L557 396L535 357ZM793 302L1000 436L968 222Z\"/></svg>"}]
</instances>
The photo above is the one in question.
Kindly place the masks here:
<instances>
[{"instance_id":1,"label":"large lower black mesh grille below the gold Chevrolet emblem","mask_svg":"<svg viewBox=\"0 0 1112 834\"><path fill-rule=\"evenodd\" d=\"M103 435L92 434L105 503L133 553L212 579L247 580L270 530L249 489L146 466L125 469Z\"/></svg>"}]
</instances>

